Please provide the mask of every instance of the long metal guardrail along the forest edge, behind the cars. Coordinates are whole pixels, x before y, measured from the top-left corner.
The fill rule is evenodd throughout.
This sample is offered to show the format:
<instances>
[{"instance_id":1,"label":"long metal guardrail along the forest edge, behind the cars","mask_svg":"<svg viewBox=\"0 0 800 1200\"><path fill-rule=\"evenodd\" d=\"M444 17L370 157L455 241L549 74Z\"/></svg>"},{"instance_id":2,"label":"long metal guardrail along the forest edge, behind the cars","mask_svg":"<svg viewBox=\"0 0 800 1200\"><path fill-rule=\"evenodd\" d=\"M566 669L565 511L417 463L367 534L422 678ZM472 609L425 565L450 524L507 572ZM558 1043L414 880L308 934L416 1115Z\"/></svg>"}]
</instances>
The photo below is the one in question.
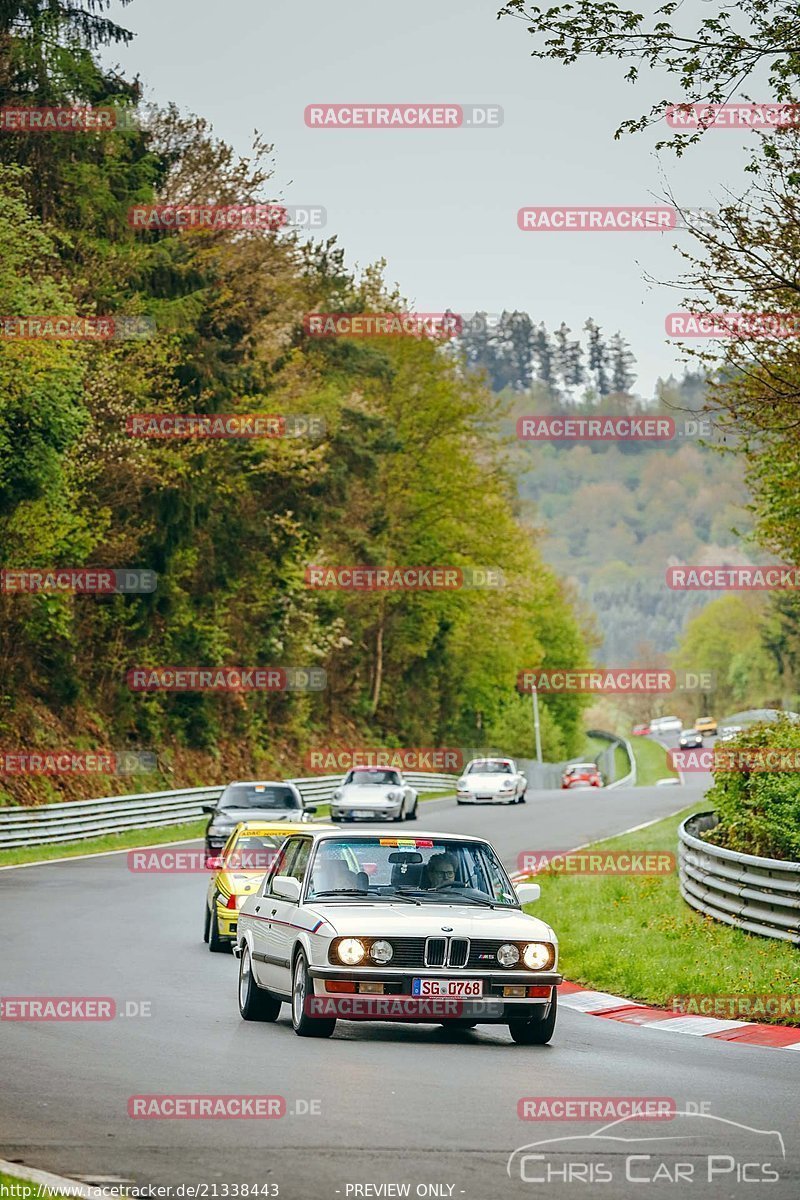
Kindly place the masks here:
<instances>
[{"instance_id":1,"label":"long metal guardrail along the forest edge, behind the cars","mask_svg":"<svg viewBox=\"0 0 800 1200\"><path fill-rule=\"evenodd\" d=\"M408 772L404 779L425 792L455 790L456 775ZM313 775L290 779L303 800L325 803L342 782L342 775ZM43 846L59 841L82 841L126 829L154 829L180 824L203 816L203 805L212 804L223 791L213 787L185 787L175 792L139 792L104 800L68 800L36 808L0 809L0 850Z\"/></svg>"}]
</instances>

